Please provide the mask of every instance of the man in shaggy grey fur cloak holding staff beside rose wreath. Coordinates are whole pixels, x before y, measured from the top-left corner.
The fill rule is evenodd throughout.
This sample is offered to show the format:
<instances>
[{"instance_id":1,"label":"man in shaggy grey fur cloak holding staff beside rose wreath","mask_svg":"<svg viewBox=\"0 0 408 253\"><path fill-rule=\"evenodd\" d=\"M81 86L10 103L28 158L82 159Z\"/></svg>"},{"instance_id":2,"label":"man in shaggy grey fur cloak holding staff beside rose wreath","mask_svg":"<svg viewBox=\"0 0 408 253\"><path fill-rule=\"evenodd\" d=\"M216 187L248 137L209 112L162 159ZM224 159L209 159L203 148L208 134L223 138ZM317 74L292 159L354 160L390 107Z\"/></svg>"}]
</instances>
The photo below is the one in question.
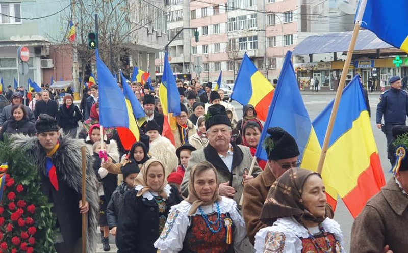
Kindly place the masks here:
<instances>
[{"instance_id":1,"label":"man in shaggy grey fur cloak holding staff beside rose wreath","mask_svg":"<svg viewBox=\"0 0 408 253\"><path fill-rule=\"evenodd\" d=\"M55 248L58 253L81 252L82 213L87 213L87 252L96 252L99 197L91 154L87 153L86 204L81 206L83 142L60 136L58 121L47 114L39 115L35 128L36 136L14 135L12 148L24 149L38 167L38 185L54 204Z\"/></svg>"}]
</instances>

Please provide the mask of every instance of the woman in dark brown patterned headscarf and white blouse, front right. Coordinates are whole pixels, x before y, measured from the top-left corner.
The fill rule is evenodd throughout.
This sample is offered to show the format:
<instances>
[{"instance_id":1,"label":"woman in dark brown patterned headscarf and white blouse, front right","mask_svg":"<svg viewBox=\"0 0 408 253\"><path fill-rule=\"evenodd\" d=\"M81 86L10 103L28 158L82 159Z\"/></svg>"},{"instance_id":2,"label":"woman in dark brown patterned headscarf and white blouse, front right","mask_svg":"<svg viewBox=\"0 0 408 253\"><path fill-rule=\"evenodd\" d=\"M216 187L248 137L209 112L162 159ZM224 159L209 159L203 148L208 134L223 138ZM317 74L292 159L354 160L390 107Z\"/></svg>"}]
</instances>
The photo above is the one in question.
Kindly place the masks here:
<instances>
[{"instance_id":1,"label":"woman in dark brown patterned headscarf and white blouse, front right","mask_svg":"<svg viewBox=\"0 0 408 253\"><path fill-rule=\"evenodd\" d=\"M326 192L320 174L290 168L273 183L261 211L272 226L255 236L257 253L344 252L340 225L326 218Z\"/></svg>"}]
</instances>

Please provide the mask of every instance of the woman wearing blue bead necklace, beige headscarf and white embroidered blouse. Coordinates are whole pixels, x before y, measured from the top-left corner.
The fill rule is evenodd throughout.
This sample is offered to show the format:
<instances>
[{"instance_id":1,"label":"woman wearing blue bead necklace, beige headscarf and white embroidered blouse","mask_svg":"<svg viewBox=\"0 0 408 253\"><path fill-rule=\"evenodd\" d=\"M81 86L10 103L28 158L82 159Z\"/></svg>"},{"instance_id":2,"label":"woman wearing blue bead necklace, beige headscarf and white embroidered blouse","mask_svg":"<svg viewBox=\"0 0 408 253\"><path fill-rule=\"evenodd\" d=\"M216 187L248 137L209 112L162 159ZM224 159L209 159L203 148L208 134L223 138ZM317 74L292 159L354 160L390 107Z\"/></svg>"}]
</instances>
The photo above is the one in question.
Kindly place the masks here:
<instances>
[{"instance_id":1,"label":"woman wearing blue bead necklace, beige headscarf and white embroidered blouse","mask_svg":"<svg viewBox=\"0 0 408 253\"><path fill-rule=\"evenodd\" d=\"M155 247L170 252L254 252L234 200L219 196L218 178L209 162L190 173L188 198L171 208Z\"/></svg>"}]
</instances>

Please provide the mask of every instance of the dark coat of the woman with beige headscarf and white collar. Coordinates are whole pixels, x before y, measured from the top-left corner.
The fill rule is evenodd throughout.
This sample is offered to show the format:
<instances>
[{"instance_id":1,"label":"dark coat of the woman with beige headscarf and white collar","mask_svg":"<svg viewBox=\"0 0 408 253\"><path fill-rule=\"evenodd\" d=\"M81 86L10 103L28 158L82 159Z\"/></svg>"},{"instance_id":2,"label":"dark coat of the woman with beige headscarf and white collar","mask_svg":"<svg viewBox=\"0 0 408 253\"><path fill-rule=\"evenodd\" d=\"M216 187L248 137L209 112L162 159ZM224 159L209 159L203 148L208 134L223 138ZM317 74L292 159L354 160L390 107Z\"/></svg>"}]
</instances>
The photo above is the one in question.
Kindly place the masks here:
<instances>
[{"instance_id":1,"label":"dark coat of the woman with beige headscarf and white collar","mask_svg":"<svg viewBox=\"0 0 408 253\"><path fill-rule=\"evenodd\" d=\"M166 218L170 207L181 202L179 190L174 186L170 187L170 194L166 200ZM157 252L153 244L160 236L159 208L154 199L138 197L137 192L134 189L124 194L116 230L118 253Z\"/></svg>"}]
</instances>

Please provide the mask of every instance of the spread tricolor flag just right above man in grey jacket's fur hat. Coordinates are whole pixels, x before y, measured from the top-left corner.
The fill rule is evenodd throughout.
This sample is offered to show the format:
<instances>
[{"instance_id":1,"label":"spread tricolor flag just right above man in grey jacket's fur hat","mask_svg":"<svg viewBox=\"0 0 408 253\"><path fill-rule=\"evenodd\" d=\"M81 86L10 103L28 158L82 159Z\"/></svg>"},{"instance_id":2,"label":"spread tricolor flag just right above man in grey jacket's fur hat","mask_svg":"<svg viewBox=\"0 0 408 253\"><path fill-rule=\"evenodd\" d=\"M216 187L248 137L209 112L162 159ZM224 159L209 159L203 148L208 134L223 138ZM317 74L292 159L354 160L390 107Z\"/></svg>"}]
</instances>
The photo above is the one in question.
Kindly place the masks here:
<instances>
[{"instance_id":1,"label":"spread tricolor flag just right above man in grey jacket's fur hat","mask_svg":"<svg viewBox=\"0 0 408 253\"><path fill-rule=\"evenodd\" d=\"M257 111L258 119L265 121L274 89L245 53L235 80L231 99L242 105L253 105Z\"/></svg>"}]
</instances>

